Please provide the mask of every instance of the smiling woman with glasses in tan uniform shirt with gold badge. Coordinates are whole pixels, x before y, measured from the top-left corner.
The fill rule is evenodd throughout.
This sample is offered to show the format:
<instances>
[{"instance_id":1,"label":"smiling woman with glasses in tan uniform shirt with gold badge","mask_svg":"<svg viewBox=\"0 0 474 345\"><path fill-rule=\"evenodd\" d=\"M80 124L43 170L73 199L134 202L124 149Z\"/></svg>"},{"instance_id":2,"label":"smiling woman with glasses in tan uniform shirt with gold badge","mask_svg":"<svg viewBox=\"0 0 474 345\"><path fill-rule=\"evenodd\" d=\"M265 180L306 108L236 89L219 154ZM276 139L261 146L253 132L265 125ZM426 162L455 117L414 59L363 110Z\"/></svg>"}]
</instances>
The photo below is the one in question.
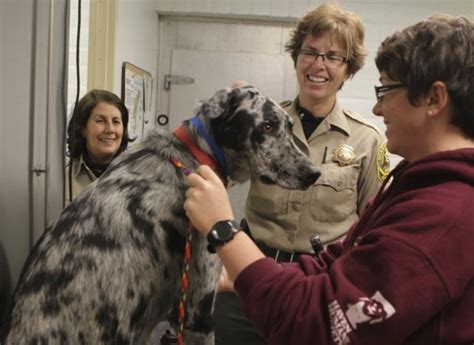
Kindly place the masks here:
<instances>
[{"instance_id":1,"label":"smiling woman with glasses in tan uniform shirt with gold badge","mask_svg":"<svg viewBox=\"0 0 474 345\"><path fill-rule=\"evenodd\" d=\"M323 244L341 239L388 173L384 137L361 115L343 109L337 92L363 66L364 27L358 16L326 4L307 13L286 46L299 85L282 106L294 119L296 144L319 165L321 177L306 191L252 180L247 231L262 252L279 262L313 254L311 235ZM238 297L218 294L216 344L264 344L243 315Z\"/></svg>"}]
</instances>

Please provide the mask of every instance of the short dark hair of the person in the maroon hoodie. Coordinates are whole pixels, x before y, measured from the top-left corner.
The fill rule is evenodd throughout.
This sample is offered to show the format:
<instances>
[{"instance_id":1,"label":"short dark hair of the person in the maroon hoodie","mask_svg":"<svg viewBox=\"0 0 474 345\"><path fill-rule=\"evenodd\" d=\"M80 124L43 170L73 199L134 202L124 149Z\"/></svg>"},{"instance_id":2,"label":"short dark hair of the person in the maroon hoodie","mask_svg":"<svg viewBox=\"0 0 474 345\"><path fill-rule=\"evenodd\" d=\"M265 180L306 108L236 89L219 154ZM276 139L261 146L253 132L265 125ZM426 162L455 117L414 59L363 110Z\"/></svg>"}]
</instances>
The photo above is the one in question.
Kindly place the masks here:
<instances>
[{"instance_id":1,"label":"short dark hair of the person in the maroon hoodie","mask_svg":"<svg viewBox=\"0 0 474 345\"><path fill-rule=\"evenodd\" d=\"M416 105L436 81L452 102L452 124L474 138L474 23L467 17L435 15L387 37L375 64L400 81Z\"/></svg>"}]
</instances>

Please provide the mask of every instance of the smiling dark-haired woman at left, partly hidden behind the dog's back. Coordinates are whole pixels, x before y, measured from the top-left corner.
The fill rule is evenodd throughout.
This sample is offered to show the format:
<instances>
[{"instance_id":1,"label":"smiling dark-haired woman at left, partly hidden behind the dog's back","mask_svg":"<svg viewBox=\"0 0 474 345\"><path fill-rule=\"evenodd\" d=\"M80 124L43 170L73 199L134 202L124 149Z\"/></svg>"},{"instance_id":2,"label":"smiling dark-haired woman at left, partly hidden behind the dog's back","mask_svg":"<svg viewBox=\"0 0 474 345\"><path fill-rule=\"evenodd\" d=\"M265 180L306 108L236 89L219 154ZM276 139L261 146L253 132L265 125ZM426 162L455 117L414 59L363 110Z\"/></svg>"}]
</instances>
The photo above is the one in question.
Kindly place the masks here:
<instances>
[{"instance_id":1,"label":"smiling dark-haired woman at left, partly hidden behind the dog's back","mask_svg":"<svg viewBox=\"0 0 474 345\"><path fill-rule=\"evenodd\" d=\"M92 90L81 98L67 128L66 201L70 202L123 152L130 138L128 110L106 90Z\"/></svg>"}]
</instances>

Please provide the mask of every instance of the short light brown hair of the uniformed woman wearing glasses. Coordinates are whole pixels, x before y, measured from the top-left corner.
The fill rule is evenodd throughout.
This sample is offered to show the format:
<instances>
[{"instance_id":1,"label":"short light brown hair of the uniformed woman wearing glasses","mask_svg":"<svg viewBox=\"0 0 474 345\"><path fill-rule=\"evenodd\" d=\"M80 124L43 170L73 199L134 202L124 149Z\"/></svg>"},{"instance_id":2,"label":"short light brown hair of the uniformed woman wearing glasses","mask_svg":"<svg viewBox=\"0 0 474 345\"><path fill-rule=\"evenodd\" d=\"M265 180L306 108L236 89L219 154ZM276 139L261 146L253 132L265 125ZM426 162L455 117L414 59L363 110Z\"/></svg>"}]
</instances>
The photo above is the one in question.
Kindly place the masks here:
<instances>
[{"instance_id":1,"label":"short light brown hair of the uniformed woman wearing glasses","mask_svg":"<svg viewBox=\"0 0 474 345\"><path fill-rule=\"evenodd\" d=\"M353 12L344 12L335 3L321 5L308 12L291 32L286 51L291 54L294 66L308 35L319 35L329 32L340 41L345 49L347 74L354 76L363 66L367 49L364 46L365 29L362 20Z\"/></svg>"}]
</instances>

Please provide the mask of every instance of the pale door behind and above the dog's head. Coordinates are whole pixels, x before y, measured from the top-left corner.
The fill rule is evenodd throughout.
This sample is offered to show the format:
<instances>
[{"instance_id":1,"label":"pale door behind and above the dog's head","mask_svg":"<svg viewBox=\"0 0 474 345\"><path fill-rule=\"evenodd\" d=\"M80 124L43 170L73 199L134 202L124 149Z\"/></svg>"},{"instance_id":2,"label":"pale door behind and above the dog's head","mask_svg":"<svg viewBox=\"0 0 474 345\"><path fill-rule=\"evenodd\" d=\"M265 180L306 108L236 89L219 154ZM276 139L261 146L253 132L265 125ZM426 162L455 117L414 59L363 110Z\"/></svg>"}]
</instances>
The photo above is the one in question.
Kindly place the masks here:
<instances>
[{"instance_id":1,"label":"pale door behind and above the dog's head","mask_svg":"<svg viewBox=\"0 0 474 345\"><path fill-rule=\"evenodd\" d=\"M191 77L194 83L171 86L170 129L193 116L201 100L237 79L277 101L283 98L282 55L173 49L171 56L171 75Z\"/></svg>"}]
</instances>

